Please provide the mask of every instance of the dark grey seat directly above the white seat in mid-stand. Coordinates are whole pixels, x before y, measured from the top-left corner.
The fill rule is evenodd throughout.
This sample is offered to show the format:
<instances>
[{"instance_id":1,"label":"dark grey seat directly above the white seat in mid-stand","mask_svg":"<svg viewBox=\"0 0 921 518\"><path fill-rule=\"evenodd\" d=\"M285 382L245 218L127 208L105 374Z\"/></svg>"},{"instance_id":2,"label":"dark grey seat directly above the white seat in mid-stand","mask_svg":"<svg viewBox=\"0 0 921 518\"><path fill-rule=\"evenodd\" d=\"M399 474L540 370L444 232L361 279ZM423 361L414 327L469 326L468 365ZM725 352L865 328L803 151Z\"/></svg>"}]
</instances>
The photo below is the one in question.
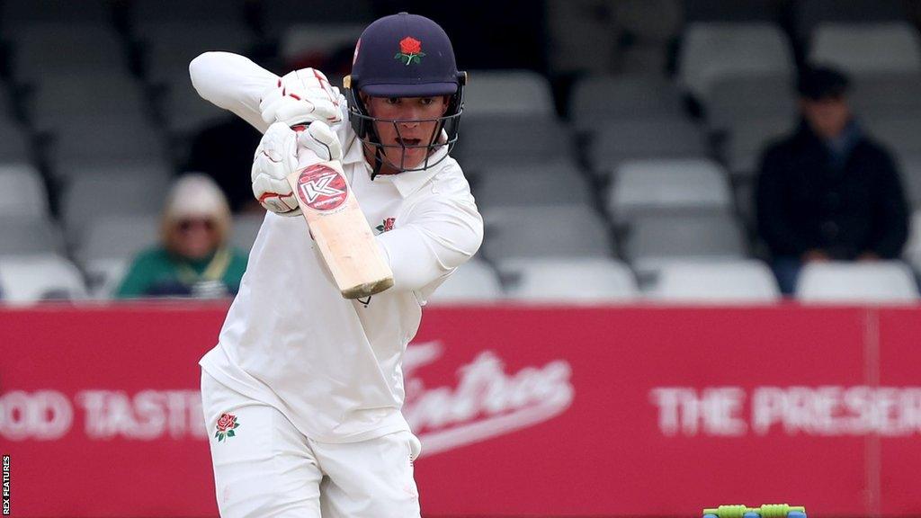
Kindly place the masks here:
<instances>
[{"instance_id":1,"label":"dark grey seat directly above the white seat in mid-stand","mask_svg":"<svg viewBox=\"0 0 921 518\"><path fill-rule=\"evenodd\" d=\"M592 170L606 176L628 159L700 158L706 156L706 136L685 119L612 121L592 139Z\"/></svg>"}]
</instances>

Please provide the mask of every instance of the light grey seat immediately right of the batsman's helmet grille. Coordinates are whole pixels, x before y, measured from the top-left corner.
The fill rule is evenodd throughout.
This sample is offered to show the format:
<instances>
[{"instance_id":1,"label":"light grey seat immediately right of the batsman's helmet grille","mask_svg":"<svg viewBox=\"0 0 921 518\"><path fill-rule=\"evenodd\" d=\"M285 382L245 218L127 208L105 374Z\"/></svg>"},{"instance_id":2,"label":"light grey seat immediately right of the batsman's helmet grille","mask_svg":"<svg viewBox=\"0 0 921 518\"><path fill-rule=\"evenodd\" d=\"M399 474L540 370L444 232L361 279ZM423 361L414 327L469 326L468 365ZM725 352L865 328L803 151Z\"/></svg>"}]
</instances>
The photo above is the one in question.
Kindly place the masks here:
<instances>
[{"instance_id":1,"label":"light grey seat immediately right of the batsman's helmet grille","mask_svg":"<svg viewBox=\"0 0 921 518\"><path fill-rule=\"evenodd\" d=\"M484 116L555 117L554 97L546 78L527 70L474 70L464 88L464 118Z\"/></svg>"}]
</instances>

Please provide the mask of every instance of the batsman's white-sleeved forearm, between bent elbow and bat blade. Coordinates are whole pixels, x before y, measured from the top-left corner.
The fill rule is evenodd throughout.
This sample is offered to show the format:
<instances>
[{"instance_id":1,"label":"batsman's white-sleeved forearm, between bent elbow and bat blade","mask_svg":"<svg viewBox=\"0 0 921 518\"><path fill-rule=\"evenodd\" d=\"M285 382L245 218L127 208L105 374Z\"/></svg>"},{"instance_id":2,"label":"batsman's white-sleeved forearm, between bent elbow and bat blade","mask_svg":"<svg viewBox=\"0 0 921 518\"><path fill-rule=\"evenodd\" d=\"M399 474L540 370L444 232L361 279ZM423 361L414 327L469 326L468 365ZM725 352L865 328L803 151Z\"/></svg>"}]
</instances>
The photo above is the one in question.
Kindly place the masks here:
<instances>
[{"instance_id":1,"label":"batsman's white-sleeved forearm, between bent elbow and bat blade","mask_svg":"<svg viewBox=\"0 0 921 518\"><path fill-rule=\"evenodd\" d=\"M483 221L451 218L437 225L408 225L378 236L393 271L393 288L417 290L467 262L483 242Z\"/></svg>"}]
</instances>

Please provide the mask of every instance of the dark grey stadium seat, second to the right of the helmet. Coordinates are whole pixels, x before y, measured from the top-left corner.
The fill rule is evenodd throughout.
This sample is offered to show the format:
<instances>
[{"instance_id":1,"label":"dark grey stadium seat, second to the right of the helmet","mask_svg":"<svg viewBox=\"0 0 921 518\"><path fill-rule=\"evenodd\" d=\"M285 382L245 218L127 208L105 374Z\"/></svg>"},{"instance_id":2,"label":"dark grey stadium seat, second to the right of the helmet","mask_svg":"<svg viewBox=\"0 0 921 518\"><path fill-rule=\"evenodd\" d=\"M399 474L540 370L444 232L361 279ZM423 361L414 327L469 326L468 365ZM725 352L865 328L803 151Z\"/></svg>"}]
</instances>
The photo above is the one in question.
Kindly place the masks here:
<instances>
[{"instance_id":1,"label":"dark grey stadium seat, second to the right of the helmet","mask_svg":"<svg viewBox=\"0 0 921 518\"><path fill-rule=\"evenodd\" d=\"M646 74L589 76L574 87L569 117L579 130L610 120L682 117L678 88L664 77Z\"/></svg>"}]
</instances>

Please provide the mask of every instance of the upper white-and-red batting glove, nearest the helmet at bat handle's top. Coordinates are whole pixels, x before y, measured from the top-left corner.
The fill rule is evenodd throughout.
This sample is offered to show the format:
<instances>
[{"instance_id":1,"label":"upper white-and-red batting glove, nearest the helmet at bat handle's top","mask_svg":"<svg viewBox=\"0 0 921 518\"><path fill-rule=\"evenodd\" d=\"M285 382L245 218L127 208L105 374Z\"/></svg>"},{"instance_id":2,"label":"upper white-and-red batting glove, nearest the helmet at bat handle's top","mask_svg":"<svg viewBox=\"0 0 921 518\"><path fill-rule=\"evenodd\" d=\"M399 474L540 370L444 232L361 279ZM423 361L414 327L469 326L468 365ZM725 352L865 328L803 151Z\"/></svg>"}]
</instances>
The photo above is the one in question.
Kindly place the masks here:
<instances>
[{"instance_id":1,"label":"upper white-and-red batting glove, nearest the helmet at bat handle's top","mask_svg":"<svg viewBox=\"0 0 921 518\"><path fill-rule=\"evenodd\" d=\"M339 88L330 86L326 76L314 68L301 68L279 78L277 86L263 94L259 111L267 124L334 124L342 120Z\"/></svg>"}]
</instances>

